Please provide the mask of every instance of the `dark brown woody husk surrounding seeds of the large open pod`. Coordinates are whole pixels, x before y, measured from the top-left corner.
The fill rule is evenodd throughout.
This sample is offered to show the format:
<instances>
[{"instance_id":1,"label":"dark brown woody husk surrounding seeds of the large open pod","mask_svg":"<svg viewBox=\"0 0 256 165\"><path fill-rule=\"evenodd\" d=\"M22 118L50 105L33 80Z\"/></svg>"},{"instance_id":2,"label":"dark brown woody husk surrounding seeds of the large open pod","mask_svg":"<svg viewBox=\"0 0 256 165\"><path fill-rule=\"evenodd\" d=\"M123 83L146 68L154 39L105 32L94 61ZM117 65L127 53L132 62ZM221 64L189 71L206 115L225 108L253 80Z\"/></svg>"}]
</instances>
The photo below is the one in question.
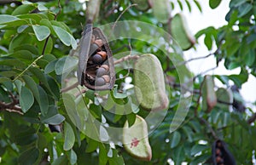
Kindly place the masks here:
<instances>
[{"instance_id":1,"label":"dark brown woody husk surrounding seeds of the large open pod","mask_svg":"<svg viewBox=\"0 0 256 165\"><path fill-rule=\"evenodd\" d=\"M91 62L90 57L95 54L96 50L91 50L90 45L91 38L94 36L96 39L102 39L103 45L102 50L104 50L108 57L107 60L101 65L108 65L110 77L109 83L106 83L102 86L96 86L94 84L96 79L96 69L101 65L96 65ZM92 90L108 90L112 89L115 83L115 73L113 66L113 54L111 49L109 48L108 41L106 37L103 35L102 30L97 27L92 27L92 24L87 24L85 26L84 34L80 43L80 53L79 53L79 67L78 67L78 79L79 84L81 86L85 86L86 88L90 88Z\"/></svg>"}]
</instances>

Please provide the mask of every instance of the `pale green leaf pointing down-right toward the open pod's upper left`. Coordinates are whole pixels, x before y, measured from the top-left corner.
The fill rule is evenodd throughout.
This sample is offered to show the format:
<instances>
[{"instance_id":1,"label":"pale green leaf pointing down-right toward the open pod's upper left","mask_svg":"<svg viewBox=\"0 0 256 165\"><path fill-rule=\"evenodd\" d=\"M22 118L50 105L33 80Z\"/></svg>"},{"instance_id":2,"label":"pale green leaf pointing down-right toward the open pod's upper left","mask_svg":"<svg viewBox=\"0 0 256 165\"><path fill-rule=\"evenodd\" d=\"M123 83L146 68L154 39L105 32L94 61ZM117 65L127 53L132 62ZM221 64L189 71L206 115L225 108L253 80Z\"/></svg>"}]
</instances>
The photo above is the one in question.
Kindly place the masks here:
<instances>
[{"instance_id":1,"label":"pale green leaf pointing down-right toward the open pod's upper left","mask_svg":"<svg viewBox=\"0 0 256 165\"><path fill-rule=\"evenodd\" d=\"M60 38L61 42L64 43L67 46L72 46L73 49L77 48L77 43L76 40L74 39L74 37L69 34L67 31L65 31L64 29L62 29L59 26L52 26L54 28L54 31L57 35L57 37Z\"/></svg>"}]
</instances>

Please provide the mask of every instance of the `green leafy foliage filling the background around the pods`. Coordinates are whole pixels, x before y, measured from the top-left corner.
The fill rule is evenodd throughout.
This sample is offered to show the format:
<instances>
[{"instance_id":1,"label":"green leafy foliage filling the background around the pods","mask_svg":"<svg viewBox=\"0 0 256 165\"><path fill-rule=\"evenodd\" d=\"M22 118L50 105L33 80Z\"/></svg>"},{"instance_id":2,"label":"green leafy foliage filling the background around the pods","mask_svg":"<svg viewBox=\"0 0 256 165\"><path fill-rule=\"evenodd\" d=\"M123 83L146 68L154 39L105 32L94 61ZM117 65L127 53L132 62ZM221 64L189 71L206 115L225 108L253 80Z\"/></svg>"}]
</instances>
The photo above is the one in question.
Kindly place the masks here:
<instances>
[{"instance_id":1,"label":"green leafy foliage filling the background around the pods","mask_svg":"<svg viewBox=\"0 0 256 165\"><path fill-rule=\"evenodd\" d=\"M171 33L169 27L175 11L202 10L196 0L154 1L159 5L153 9L148 2L139 2L145 4L145 8L128 8L135 1L102 0L101 12L94 26L117 19L140 20ZM221 0L209 1L212 9L220 3ZM60 1L60 5L61 12L57 1L0 5L0 163L167 164L172 159L175 164L211 164L212 143L218 138L228 145L237 164L253 164L256 129L255 120L248 123L248 119L255 112L250 107L246 112L233 108L235 100L243 104L244 101L239 94L230 91L230 86L236 84L241 88L249 76L256 77L255 2L230 0L230 11L225 17L227 25L218 29L207 27L195 35L196 39L204 37L207 49L214 51L217 65L224 60L227 69L240 68L241 72L238 75L212 75L207 89L211 93L204 89L202 75L194 77L192 102L186 105L189 112L182 125L172 133L170 124L183 97L180 90L186 88L183 86L186 84L179 84L183 77L179 77L175 69L177 65L161 55L160 46L166 43L151 36L144 37L148 41L120 38L109 43L116 59L119 59L119 53L130 51L129 46L126 47L129 44L133 52L155 54L165 71L166 80L170 79L166 83L170 86L166 90L170 100L166 117L149 134L150 162L135 159L120 145L102 143L108 141L108 126L122 128L128 121L131 127L137 115L148 117L149 112L137 106L137 100L132 97L134 88L122 88L127 82L120 77L134 75L128 69L133 65L132 60L115 65L117 81L111 91L94 93L88 89L85 94L80 94L84 89L80 86L67 93L63 91L77 82L73 70L78 65L78 58L73 49L79 48L77 39L83 31L80 25L84 25L86 10L76 0ZM136 26L126 27L129 30ZM179 61L183 58L181 54L180 50L170 56L177 55L174 59ZM185 66L183 68L187 70ZM222 88L213 85L217 79L223 83ZM129 85L133 83L131 80ZM206 111L204 104L216 97L217 103L212 105L211 111ZM52 132L49 125L60 131ZM119 134L114 135L118 137ZM94 136L99 136L102 141L93 139Z\"/></svg>"}]
</instances>

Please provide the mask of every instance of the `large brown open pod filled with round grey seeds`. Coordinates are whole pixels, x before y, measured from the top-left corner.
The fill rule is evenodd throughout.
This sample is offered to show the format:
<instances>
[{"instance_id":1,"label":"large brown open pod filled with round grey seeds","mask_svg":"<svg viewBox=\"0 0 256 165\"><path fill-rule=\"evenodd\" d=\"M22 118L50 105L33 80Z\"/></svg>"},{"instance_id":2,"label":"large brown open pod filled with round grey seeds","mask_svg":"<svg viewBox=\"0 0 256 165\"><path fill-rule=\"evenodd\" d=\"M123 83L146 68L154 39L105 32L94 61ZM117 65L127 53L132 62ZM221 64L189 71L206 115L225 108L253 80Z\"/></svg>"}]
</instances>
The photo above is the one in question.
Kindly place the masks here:
<instances>
[{"instance_id":1,"label":"large brown open pod filled with round grey seeds","mask_svg":"<svg viewBox=\"0 0 256 165\"><path fill-rule=\"evenodd\" d=\"M112 89L115 82L113 54L102 30L87 24L81 38L79 53L78 79L80 85L93 90ZM97 76L99 68L108 71ZM100 69L102 70L102 69ZM104 76L104 77L103 77Z\"/></svg>"}]
</instances>

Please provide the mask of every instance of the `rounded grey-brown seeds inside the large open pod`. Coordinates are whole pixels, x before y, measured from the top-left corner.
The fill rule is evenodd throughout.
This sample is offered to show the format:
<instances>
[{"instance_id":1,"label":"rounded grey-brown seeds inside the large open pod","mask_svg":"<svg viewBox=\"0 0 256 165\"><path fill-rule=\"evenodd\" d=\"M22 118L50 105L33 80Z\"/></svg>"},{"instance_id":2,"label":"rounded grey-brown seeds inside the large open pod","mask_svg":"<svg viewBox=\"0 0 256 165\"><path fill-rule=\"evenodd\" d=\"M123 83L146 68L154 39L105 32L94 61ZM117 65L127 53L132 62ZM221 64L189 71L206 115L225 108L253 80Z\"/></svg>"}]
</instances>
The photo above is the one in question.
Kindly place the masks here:
<instances>
[{"instance_id":1,"label":"rounded grey-brown seeds inside the large open pod","mask_svg":"<svg viewBox=\"0 0 256 165\"><path fill-rule=\"evenodd\" d=\"M90 85L106 85L110 82L108 54L102 39L95 35L91 37L89 55L85 79Z\"/></svg>"}]
</instances>

